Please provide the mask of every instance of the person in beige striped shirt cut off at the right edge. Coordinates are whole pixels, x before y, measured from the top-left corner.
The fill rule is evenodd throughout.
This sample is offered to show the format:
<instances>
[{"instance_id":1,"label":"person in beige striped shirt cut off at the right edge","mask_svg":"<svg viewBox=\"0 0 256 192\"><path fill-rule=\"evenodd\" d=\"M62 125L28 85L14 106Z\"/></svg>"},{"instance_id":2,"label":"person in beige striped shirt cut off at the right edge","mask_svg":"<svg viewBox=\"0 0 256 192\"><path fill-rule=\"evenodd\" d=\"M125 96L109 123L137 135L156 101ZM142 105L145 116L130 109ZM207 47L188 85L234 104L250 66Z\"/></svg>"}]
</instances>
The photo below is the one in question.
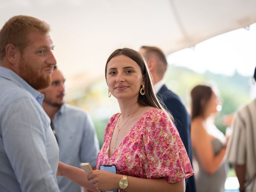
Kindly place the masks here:
<instances>
[{"instance_id":1,"label":"person in beige striped shirt cut off at the right edge","mask_svg":"<svg viewBox=\"0 0 256 192\"><path fill-rule=\"evenodd\" d=\"M256 81L256 68L254 70ZM228 160L234 165L241 192L256 191L256 99L234 116Z\"/></svg>"}]
</instances>

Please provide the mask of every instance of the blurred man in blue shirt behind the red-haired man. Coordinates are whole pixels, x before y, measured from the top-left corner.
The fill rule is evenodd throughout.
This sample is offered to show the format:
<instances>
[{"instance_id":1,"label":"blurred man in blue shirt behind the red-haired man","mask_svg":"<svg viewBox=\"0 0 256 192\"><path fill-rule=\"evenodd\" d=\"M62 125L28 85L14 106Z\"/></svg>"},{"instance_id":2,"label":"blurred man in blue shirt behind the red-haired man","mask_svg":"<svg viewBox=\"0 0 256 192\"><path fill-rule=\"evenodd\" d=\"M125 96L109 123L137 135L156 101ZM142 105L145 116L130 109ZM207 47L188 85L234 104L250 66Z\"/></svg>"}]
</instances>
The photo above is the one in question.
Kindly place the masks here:
<instances>
[{"instance_id":1,"label":"blurred man in blue shirt behind the red-haired man","mask_svg":"<svg viewBox=\"0 0 256 192\"><path fill-rule=\"evenodd\" d=\"M89 114L74 106L64 104L65 78L54 66L52 84L40 92L44 94L43 108L60 148L60 161L80 168L81 162L96 167L99 151L98 138ZM86 179L86 178L84 178ZM65 177L57 177L61 192L81 192L81 187Z\"/></svg>"}]
</instances>

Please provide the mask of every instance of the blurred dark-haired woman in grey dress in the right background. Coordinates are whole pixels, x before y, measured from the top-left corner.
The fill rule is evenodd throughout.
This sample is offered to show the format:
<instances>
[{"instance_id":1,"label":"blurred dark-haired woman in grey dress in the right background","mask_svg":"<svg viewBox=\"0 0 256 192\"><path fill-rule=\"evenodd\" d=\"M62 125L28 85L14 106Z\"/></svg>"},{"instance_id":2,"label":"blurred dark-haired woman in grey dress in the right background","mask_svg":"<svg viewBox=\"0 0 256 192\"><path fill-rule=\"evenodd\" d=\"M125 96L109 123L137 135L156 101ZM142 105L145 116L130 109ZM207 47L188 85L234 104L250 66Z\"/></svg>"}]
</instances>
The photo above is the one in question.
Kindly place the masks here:
<instances>
[{"instance_id":1,"label":"blurred dark-haired woman in grey dress in the right background","mask_svg":"<svg viewBox=\"0 0 256 192\"><path fill-rule=\"evenodd\" d=\"M224 192L229 169L225 156L228 138L214 125L214 116L221 110L217 90L206 85L195 86L191 102L191 142L198 162L197 191Z\"/></svg>"}]
</instances>

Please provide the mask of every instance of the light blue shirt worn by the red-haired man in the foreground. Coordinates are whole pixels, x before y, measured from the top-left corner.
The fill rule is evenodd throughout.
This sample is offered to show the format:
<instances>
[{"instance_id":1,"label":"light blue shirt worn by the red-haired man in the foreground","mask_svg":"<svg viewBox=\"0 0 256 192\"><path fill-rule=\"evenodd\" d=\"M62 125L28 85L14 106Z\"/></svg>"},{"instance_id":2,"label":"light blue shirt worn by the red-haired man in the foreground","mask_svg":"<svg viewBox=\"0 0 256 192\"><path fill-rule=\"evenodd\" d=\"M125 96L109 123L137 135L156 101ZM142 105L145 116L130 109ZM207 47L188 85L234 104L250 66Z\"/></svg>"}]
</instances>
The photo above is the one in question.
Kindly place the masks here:
<instances>
[{"instance_id":1,"label":"light blue shirt worn by the red-haired man in the foreground","mask_svg":"<svg viewBox=\"0 0 256 192\"><path fill-rule=\"evenodd\" d=\"M58 145L44 96L0 66L0 191L59 192Z\"/></svg>"}]
</instances>

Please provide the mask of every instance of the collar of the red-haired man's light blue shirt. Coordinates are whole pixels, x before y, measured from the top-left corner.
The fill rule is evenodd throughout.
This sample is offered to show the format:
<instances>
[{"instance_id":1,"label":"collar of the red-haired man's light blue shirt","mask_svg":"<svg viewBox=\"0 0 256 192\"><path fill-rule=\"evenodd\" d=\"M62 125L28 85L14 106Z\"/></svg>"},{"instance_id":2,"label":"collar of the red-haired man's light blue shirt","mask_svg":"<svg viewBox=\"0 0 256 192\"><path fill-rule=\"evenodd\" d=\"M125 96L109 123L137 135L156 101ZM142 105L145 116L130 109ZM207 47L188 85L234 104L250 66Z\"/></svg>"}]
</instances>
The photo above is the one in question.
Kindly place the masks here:
<instances>
[{"instance_id":1,"label":"collar of the red-haired man's light blue shirt","mask_svg":"<svg viewBox=\"0 0 256 192\"><path fill-rule=\"evenodd\" d=\"M18 74L14 71L0 66L0 77L5 79L11 80L12 82L16 83L19 87L27 90L32 94L32 96L37 100L37 102L42 105L42 101L44 99L44 95L32 88L24 79L22 79Z\"/></svg>"}]
</instances>

